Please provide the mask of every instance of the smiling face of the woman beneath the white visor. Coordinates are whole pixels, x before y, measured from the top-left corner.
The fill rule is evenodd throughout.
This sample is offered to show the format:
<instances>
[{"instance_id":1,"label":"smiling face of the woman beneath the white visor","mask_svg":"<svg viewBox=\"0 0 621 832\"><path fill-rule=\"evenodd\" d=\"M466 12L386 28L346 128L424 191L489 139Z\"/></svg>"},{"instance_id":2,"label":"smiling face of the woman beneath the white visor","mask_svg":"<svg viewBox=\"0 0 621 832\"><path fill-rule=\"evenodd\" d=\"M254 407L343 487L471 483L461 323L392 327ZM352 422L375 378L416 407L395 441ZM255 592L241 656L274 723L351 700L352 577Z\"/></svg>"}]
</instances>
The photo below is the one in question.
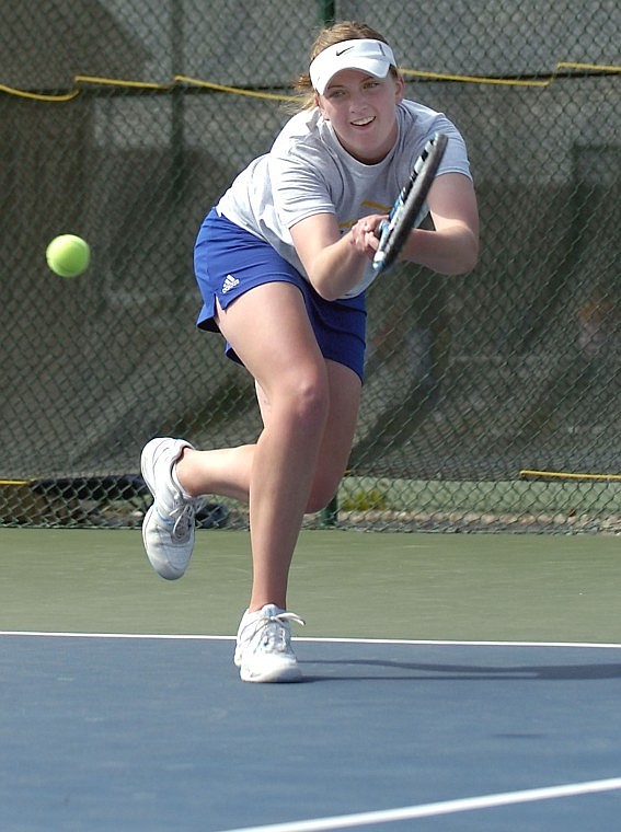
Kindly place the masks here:
<instances>
[{"instance_id":1,"label":"smiling face of the woman beneath the white visor","mask_svg":"<svg viewBox=\"0 0 621 832\"><path fill-rule=\"evenodd\" d=\"M375 164L396 141L396 104L403 99L403 79L391 72L375 78L358 69L343 69L317 103L344 149L365 164Z\"/></svg>"}]
</instances>

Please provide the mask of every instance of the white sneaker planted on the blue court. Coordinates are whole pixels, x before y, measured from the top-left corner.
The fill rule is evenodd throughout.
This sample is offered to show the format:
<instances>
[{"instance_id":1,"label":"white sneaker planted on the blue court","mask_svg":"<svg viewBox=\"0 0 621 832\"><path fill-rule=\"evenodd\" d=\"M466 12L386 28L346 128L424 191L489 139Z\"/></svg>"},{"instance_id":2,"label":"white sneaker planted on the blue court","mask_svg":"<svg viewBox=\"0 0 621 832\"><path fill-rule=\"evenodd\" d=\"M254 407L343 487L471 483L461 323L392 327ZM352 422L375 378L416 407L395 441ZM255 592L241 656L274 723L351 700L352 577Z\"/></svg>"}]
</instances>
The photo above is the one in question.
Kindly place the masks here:
<instances>
[{"instance_id":1,"label":"white sneaker planted on the blue court","mask_svg":"<svg viewBox=\"0 0 621 832\"><path fill-rule=\"evenodd\" d=\"M301 670L291 649L290 622L304 625L292 612L266 604L243 614L234 663L243 682L299 682Z\"/></svg>"}]
</instances>

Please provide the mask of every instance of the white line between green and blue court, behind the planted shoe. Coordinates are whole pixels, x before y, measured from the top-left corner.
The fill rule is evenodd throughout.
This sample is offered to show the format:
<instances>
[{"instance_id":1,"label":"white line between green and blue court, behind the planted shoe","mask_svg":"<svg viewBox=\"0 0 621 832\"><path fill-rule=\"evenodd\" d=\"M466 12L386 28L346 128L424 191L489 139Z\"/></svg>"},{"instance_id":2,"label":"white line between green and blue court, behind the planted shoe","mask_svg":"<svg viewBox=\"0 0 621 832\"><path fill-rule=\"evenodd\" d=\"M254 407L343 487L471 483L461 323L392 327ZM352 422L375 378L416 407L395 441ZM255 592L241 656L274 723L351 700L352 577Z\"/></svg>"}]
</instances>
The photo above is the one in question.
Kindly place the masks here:
<instances>
[{"instance_id":1,"label":"white line between green and blue court, behind the planted shoe","mask_svg":"<svg viewBox=\"0 0 621 832\"><path fill-rule=\"evenodd\" d=\"M0 629L0 636L33 636L38 638L137 638L163 639L181 642L230 642L235 636L211 636L197 634L170 633L69 633L48 632L39 629ZM606 642L457 642L446 639L414 639L414 638L310 638L294 636L295 642L318 644L370 644L370 645L414 645L438 647L576 647L582 649L606 648L620 650L621 644Z\"/></svg>"}]
</instances>

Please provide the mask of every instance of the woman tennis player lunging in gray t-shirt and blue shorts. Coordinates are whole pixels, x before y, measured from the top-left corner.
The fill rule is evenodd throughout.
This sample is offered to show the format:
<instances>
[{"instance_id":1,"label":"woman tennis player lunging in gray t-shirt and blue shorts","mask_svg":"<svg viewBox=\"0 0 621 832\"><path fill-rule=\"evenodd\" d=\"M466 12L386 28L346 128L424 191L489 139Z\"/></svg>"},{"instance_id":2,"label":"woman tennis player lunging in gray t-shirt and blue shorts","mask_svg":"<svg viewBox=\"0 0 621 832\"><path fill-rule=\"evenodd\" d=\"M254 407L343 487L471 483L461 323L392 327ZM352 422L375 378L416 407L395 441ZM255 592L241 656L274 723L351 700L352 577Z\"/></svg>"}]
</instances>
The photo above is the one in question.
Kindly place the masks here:
<instances>
[{"instance_id":1,"label":"woman tennis player lunging in gray t-shirt and blue shorts","mask_svg":"<svg viewBox=\"0 0 621 832\"><path fill-rule=\"evenodd\" d=\"M303 515L331 500L352 448L375 228L436 131L449 141L427 200L434 230L413 230L402 257L458 275L479 251L463 139L446 116L404 100L378 32L353 22L322 30L297 86L299 112L208 213L195 246L197 325L221 333L252 374L263 430L254 444L219 450L157 438L141 458L154 498L142 536L164 578L187 568L203 495L250 505L253 582L234 654L246 682L301 678L289 567Z\"/></svg>"}]
</instances>

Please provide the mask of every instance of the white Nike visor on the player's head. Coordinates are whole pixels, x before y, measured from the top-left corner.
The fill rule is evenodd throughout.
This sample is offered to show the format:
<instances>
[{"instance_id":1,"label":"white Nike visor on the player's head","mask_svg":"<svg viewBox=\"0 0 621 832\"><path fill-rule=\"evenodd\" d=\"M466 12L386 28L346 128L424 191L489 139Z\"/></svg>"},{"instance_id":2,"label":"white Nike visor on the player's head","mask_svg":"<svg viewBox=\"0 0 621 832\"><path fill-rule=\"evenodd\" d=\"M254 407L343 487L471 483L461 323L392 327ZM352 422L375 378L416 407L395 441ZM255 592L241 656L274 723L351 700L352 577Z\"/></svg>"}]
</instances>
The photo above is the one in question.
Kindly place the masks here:
<instances>
[{"instance_id":1,"label":"white Nike visor on the player's head","mask_svg":"<svg viewBox=\"0 0 621 832\"><path fill-rule=\"evenodd\" d=\"M383 41L341 41L321 51L310 65L312 85L323 95L331 79L342 69L359 69L375 78L386 78L396 67L392 49Z\"/></svg>"}]
</instances>

